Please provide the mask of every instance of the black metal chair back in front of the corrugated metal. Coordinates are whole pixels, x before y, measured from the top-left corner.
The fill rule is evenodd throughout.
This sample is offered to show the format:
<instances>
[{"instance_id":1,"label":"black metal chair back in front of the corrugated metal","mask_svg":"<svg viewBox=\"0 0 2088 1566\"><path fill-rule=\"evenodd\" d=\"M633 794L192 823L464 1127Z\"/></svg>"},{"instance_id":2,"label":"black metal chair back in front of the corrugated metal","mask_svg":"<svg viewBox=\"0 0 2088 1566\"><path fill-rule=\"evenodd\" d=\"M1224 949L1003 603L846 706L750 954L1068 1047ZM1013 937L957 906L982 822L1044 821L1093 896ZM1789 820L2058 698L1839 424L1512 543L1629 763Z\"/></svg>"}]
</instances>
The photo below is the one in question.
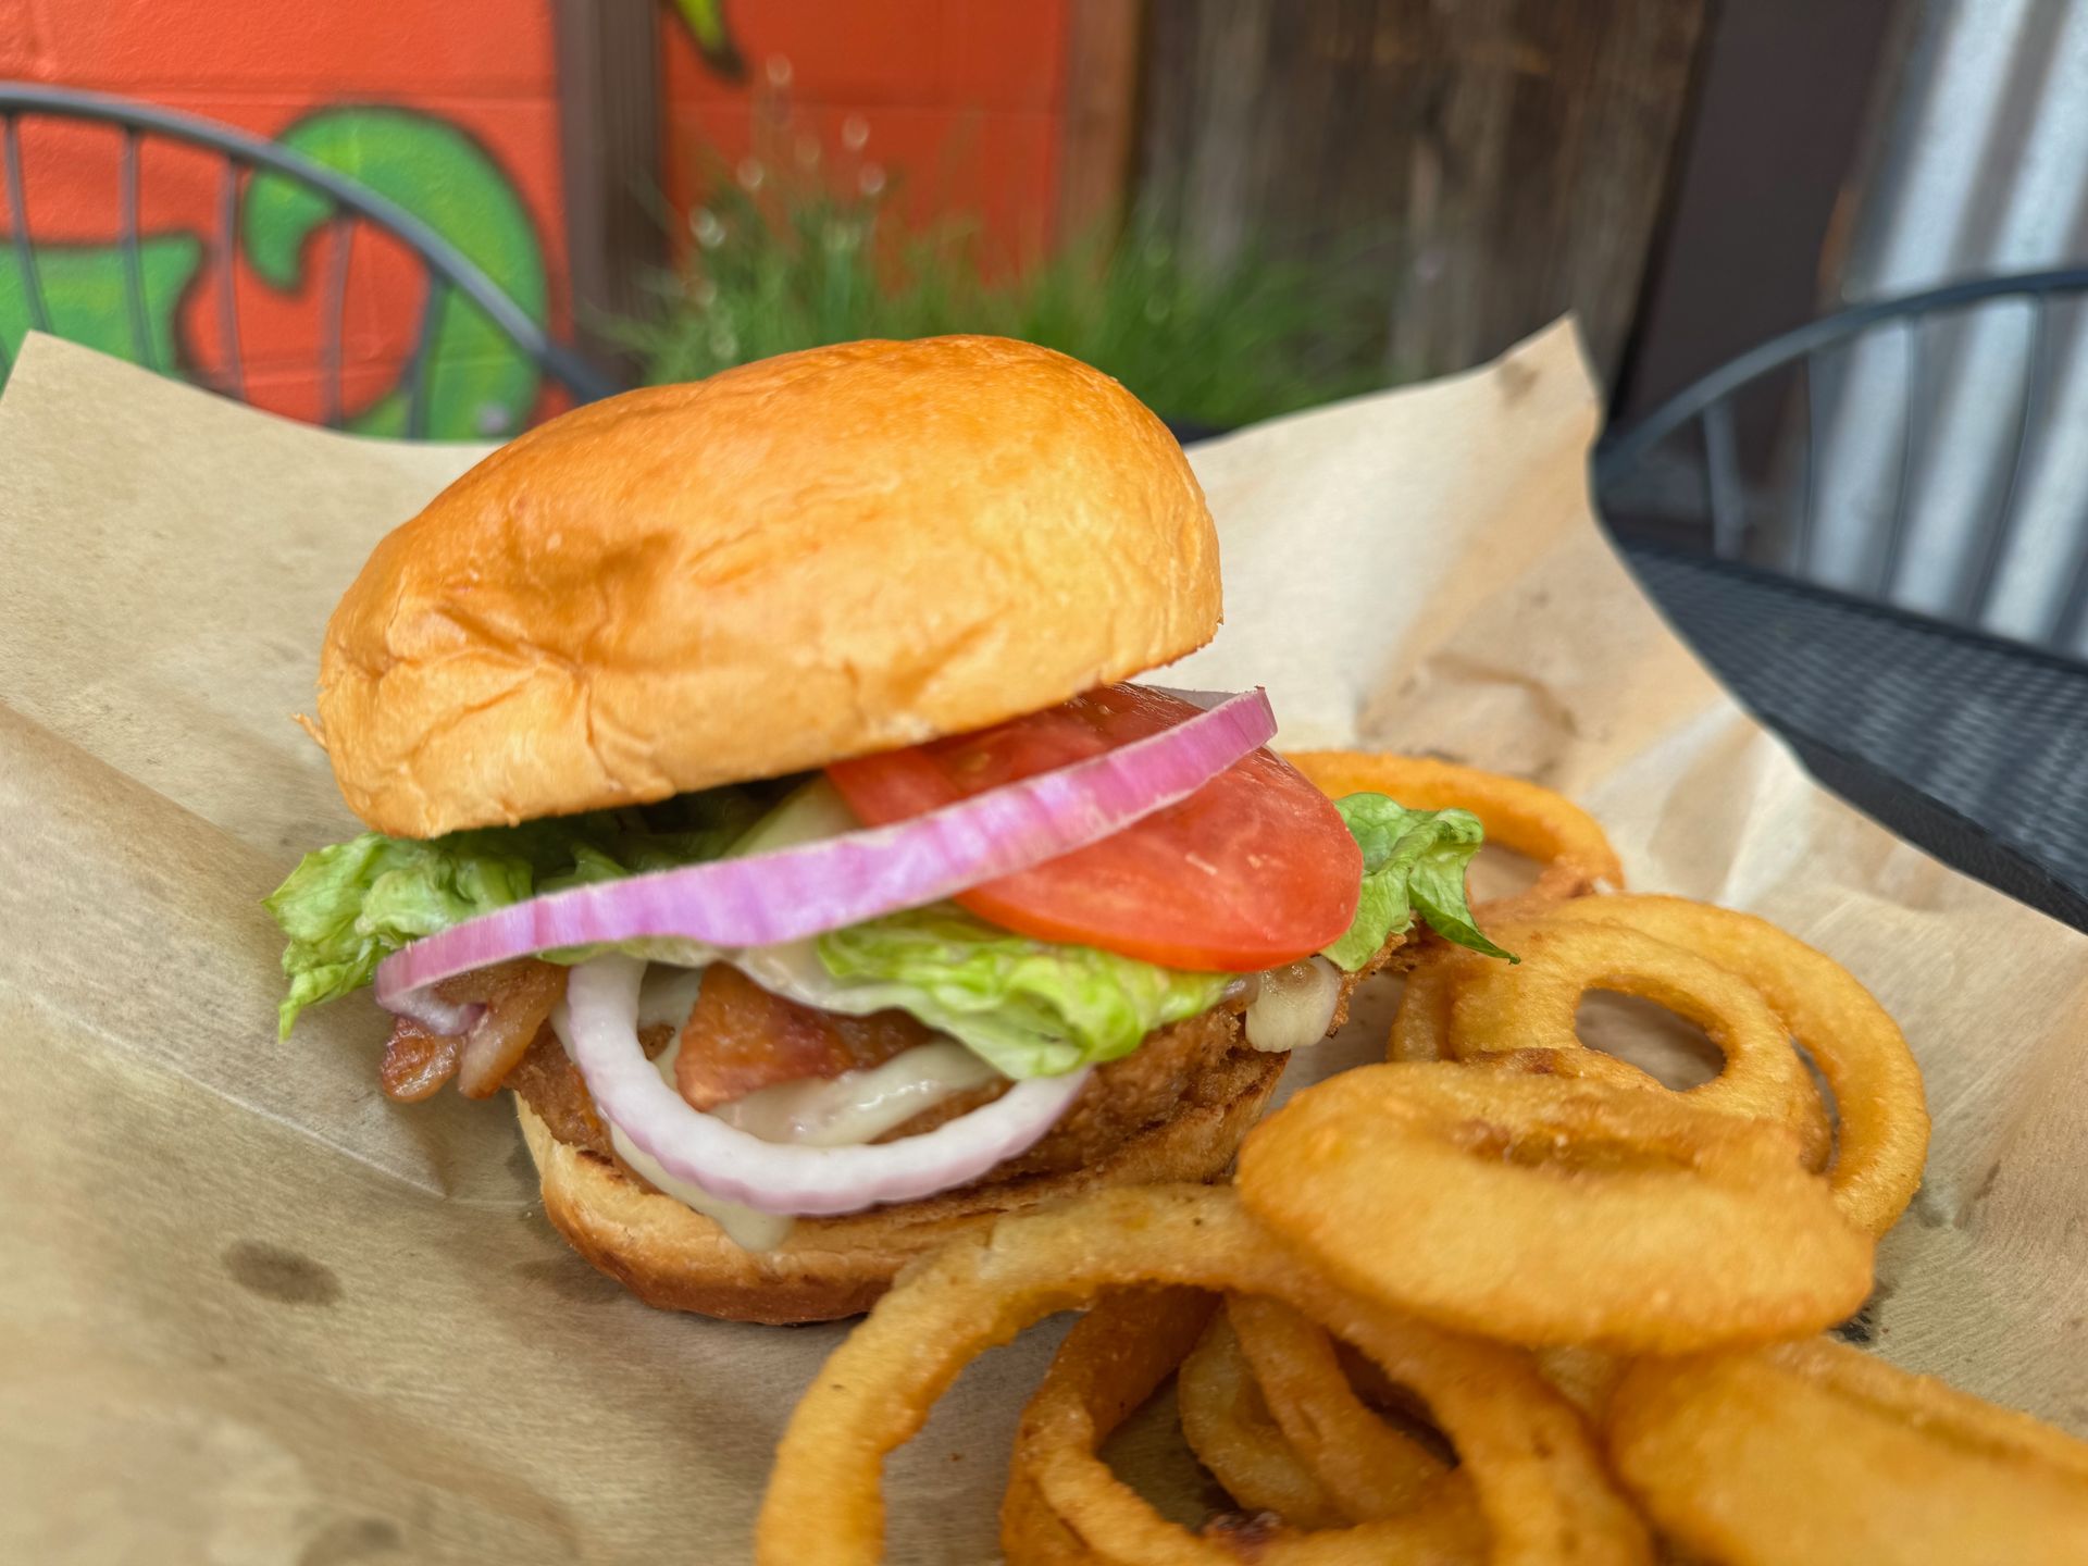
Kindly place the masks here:
<instances>
[{"instance_id":1,"label":"black metal chair back in front of the corrugated metal","mask_svg":"<svg viewBox=\"0 0 2088 1566\"><path fill-rule=\"evenodd\" d=\"M1911 564L1911 499L1921 487L1923 466L1936 457L1936 432L1923 420L1938 393L1948 388L1950 376L1963 372L1967 353L1963 338L1944 340L1940 353L1936 334L1950 330L1946 322L1956 322L1963 332L1969 311L2013 303L2027 313L2027 338L2019 353L2013 345L2009 349L2021 361L2013 438L2002 436L1996 449L2000 459L1979 470L1977 493L1969 501L1982 512L1984 528L1973 535L1963 568L1952 572L1948 601L1913 608L1961 624L2002 628L2057 651L2078 649L2088 633L2088 507L2069 518L2080 539L2067 587L2055 595L2044 622L2007 628L1994 626L1992 616L2002 566L2011 545L2019 541L2025 466L2048 432L2055 374L2050 315L2084 292L2088 267L1971 278L1854 305L1785 332L1710 372L1597 447L1595 489L1604 516L1624 539L1689 543L1725 560L1750 560L1865 597L1908 603L1896 587ZM1898 407L1890 399L1871 405L1867 395L1860 405L1850 407L1854 390L1869 393L1883 378L1869 376L1852 386L1848 357L1840 363L1844 382L1823 395L1835 372L1835 357L1852 355L1873 334L1888 330L1902 340L1896 355ZM1821 474L1833 459L1823 422L1833 390L1844 395L1840 413L1850 413L1873 430L1879 422L1896 426L1892 501L1881 518L1865 518L1869 562L1860 572L1819 570ZM1802 413L1796 409L1798 393ZM1685 438L1691 432L1693 447ZM2065 457L2065 451L2055 447L2040 455Z\"/></svg>"}]
</instances>

